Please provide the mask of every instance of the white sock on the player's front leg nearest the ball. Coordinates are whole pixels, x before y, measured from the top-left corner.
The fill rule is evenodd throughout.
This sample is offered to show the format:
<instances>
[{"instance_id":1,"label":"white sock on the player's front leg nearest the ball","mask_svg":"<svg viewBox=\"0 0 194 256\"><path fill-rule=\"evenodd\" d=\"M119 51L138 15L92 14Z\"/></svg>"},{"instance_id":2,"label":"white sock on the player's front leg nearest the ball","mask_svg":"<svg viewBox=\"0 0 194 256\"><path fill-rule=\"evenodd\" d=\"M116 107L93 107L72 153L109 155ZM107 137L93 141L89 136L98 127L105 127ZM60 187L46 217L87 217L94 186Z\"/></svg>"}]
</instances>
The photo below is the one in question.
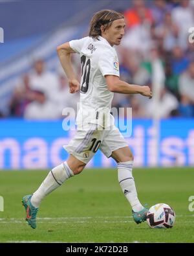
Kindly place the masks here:
<instances>
[{"instance_id":1,"label":"white sock on the player's front leg nearest the ball","mask_svg":"<svg viewBox=\"0 0 194 256\"><path fill-rule=\"evenodd\" d=\"M144 209L144 207L138 200L132 169L133 161L118 163L118 181L133 211L137 212Z\"/></svg>"}]
</instances>

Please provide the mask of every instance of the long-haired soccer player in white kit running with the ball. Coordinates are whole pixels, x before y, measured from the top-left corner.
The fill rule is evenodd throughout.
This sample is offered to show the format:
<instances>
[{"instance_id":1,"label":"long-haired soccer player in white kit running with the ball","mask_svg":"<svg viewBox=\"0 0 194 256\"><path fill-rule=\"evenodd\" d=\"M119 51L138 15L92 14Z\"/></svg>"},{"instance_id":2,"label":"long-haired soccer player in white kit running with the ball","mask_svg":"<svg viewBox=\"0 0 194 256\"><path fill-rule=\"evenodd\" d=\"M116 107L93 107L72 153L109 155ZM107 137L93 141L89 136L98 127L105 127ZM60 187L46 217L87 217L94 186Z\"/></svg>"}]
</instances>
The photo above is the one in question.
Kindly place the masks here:
<instances>
[{"instance_id":1,"label":"long-haired soccer player in white kit running with the ball","mask_svg":"<svg viewBox=\"0 0 194 256\"><path fill-rule=\"evenodd\" d=\"M26 220L36 228L36 215L41 201L64 181L79 174L98 148L118 163L118 181L137 224L146 220L147 209L138 200L132 174L133 154L110 113L114 93L140 93L152 97L148 86L136 86L120 80L118 56L114 45L124 36L124 16L114 10L101 10L91 20L89 36L72 40L57 47L61 65L69 79L70 93L80 91L80 110L76 122L78 130L64 146L69 152L67 161L52 169L36 192L23 197ZM144 43L144 42L142 42ZM71 54L81 58L81 82L70 62Z\"/></svg>"}]
</instances>

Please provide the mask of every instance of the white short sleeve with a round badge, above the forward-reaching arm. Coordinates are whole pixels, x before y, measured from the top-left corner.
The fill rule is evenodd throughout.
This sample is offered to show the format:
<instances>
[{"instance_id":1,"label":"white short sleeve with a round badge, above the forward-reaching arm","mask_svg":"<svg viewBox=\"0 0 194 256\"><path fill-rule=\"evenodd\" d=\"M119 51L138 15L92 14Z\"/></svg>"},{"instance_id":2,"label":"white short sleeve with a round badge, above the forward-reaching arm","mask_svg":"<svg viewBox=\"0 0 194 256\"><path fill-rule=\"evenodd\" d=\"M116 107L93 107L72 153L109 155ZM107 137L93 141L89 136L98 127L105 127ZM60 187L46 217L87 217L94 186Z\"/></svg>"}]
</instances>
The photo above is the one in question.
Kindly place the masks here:
<instances>
[{"instance_id":1,"label":"white short sleeve with a round badge, above the forward-reaching arm","mask_svg":"<svg viewBox=\"0 0 194 256\"><path fill-rule=\"evenodd\" d=\"M98 65L103 76L105 75L120 76L118 57L116 52L104 51L99 58Z\"/></svg>"}]
</instances>

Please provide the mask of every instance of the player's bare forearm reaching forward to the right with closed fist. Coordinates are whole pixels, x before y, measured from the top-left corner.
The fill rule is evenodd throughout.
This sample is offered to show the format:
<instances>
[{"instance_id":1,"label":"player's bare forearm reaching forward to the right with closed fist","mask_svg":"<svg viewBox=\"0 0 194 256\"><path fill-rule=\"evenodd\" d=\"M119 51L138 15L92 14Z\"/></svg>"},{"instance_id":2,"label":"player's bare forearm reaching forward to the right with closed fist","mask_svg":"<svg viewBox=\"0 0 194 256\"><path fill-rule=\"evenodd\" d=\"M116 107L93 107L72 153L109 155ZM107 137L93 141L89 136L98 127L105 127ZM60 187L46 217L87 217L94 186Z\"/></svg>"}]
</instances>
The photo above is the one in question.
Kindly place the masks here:
<instances>
[{"instance_id":1,"label":"player's bare forearm reaching forward to the right with closed fist","mask_svg":"<svg viewBox=\"0 0 194 256\"><path fill-rule=\"evenodd\" d=\"M136 86L135 84L128 84L120 80L118 76L105 75L105 80L109 91L113 93L124 93L124 94L137 94L140 93L143 96L152 97L152 92L149 86Z\"/></svg>"}]
</instances>

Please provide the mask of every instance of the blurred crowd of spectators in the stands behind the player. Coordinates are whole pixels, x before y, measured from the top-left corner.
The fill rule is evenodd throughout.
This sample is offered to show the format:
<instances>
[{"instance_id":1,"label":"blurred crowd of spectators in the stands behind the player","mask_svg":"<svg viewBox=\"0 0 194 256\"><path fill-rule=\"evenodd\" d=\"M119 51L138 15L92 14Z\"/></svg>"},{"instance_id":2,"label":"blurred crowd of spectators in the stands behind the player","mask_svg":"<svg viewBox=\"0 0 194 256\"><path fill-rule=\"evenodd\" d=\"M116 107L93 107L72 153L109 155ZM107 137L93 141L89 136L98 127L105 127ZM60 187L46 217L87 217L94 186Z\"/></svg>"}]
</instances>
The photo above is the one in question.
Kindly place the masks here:
<instances>
[{"instance_id":1,"label":"blurred crowd of spectators in the stands behind the player","mask_svg":"<svg viewBox=\"0 0 194 256\"><path fill-rule=\"evenodd\" d=\"M194 43L188 40L188 28L194 27L194 1L153 0L147 5L135 0L131 8L118 11L126 22L124 39L117 47L121 79L150 87L158 82L158 117L194 117ZM72 62L80 77L79 57ZM78 100L78 93L70 95L61 67L51 73L39 59L16 84L9 117L59 119L63 108L76 109ZM135 118L151 118L155 112L153 99L141 95L115 94L113 107L132 107Z\"/></svg>"}]
</instances>

